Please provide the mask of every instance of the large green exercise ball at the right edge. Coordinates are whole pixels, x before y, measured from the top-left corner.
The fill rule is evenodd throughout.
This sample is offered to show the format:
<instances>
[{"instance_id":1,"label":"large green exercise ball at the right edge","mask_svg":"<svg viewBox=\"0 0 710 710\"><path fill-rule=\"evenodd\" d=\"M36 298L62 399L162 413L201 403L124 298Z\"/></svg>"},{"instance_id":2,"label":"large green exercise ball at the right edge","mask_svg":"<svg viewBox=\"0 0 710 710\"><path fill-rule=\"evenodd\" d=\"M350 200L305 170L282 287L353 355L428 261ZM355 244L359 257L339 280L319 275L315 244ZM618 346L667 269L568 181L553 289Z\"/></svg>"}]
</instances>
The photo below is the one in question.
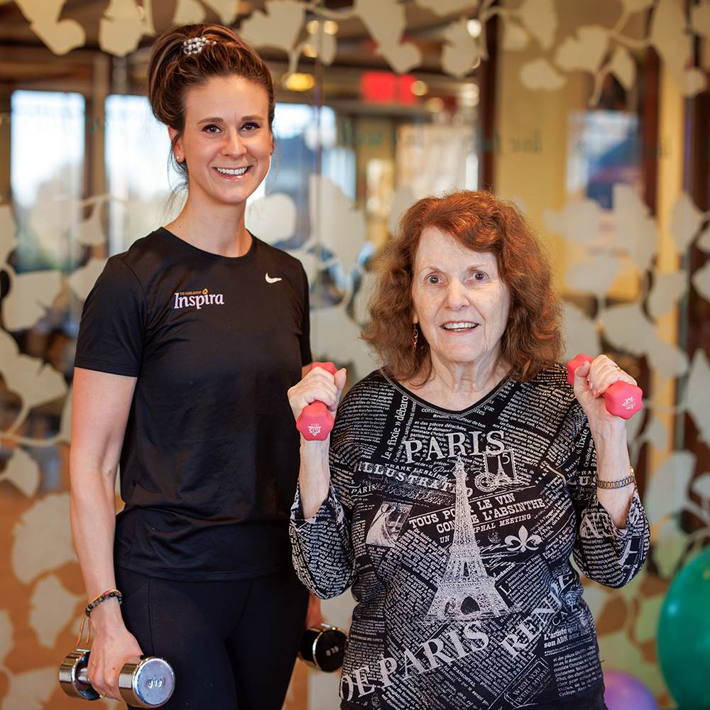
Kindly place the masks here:
<instances>
[{"instance_id":1,"label":"large green exercise ball at the right edge","mask_svg":"<svg viewBox=\"0 0 710 710\"><path fill-rule=\"evenodd\" d=\"M710 710L710 547L672 581L658 623L658 658L683 710Z\"/></svg>"}]
</instances>

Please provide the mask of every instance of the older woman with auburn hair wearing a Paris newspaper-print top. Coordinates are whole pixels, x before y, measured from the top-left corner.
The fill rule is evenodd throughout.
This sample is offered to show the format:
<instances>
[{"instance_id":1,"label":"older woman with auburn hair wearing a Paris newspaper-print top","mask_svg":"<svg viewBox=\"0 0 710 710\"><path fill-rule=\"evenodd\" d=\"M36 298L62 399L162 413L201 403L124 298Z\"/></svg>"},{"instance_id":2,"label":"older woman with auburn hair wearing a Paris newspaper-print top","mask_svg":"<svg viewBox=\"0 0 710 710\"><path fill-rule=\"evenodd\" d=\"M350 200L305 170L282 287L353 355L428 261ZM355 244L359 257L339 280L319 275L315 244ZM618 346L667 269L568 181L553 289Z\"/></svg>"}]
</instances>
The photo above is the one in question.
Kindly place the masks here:
<instances>
[{"instance_id":1,"label":"older woman with auburn hair wearing a Paris newspaper-print top","mask_svg":"<svg viewBox=\"0 0 710 710\"><path fill-rule=\"evenodd\" d=\"M301 442L291 537L318 596L356 599L341 708L603 709L587 577L648 550L606 356L558 363L559 304L525 218L485 192L420 200L381 262L383 366ZM332 410L344 371L290 389ZM329 449L329 450L328 450Z\"/></svg>"}]
</instances>

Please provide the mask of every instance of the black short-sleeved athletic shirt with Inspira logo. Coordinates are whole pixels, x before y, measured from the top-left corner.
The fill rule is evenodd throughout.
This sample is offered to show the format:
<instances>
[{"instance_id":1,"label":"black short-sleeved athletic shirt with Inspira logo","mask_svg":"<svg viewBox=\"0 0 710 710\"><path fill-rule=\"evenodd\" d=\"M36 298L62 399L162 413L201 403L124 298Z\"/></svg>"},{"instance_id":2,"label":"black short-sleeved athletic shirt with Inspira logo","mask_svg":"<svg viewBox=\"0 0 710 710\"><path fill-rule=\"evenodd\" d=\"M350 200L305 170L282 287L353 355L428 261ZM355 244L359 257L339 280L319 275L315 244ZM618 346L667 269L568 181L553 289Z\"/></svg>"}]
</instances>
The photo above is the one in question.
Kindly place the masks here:
<instances>
[{"instance_id":1,"label":"black short-sleeved athletic shirt with Inspira logo","mask_svg":"<svg viewBox=\"0 0 710 710\"><path fill-rule=\"evenodd\" d=\"M75 364L138 378L116 564L185 581L290 566L299 454L287 390L311 360L309 330L300 262L259 239L228 258L158 229L109 258Z\"/></svg>"}]
</instances>

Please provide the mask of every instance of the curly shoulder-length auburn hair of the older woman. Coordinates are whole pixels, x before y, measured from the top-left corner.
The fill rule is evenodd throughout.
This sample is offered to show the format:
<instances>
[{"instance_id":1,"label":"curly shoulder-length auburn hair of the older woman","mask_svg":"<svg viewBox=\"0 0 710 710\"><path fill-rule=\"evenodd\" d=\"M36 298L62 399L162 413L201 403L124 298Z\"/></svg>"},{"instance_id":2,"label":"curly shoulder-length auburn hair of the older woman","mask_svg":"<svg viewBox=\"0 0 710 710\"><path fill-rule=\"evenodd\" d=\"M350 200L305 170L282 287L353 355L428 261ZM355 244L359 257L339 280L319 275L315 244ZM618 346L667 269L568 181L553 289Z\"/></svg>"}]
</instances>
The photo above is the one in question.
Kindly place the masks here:
<instances>
[{"instance_id":1,"label":"curly shoulder-length auburn hair of the older woman","mask_svg":"<svg viewBox=\"0 0 710 710\"><path fill-rule=\"evenodd\" d=\"M430 346L421 330L413 350L413 269L422 231L439 229L472 251L493 254L510 292L499 361L510 378L530 381L562 356L562 310L552 289L550 260L530 222L512 202L489 192L461 190L425 197L400 221L398 238L376 262L378 280L363 339L399 379L432 373Z\"/></svg>"}]
</instances>

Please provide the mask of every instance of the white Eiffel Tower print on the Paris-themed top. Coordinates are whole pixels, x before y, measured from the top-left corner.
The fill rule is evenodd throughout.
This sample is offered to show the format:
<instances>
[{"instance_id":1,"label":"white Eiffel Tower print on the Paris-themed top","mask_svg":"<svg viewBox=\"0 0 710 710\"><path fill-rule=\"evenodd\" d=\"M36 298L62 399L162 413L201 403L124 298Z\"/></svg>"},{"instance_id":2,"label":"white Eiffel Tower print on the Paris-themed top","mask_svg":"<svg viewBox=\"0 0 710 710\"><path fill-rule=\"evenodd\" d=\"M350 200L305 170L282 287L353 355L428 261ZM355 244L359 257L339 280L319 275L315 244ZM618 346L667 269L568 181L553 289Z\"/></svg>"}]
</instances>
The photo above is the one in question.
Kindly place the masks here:
<instances>
[{"instance_id":1,"label":"white Eiffel Tower print on the Paris-themed top","mask_svg":"<svg viewBox=\"0 0 710 710\"><path fill-rule=\"evenodd\" d=\"M439 619L476 619L508 613L508 605L498 594L476 544L471 508L466 496L466 471L461 457L454 468L456 476L456 518L454 542L449 550L444 578L427 616Z\"/></svg>"}]
</instances>

